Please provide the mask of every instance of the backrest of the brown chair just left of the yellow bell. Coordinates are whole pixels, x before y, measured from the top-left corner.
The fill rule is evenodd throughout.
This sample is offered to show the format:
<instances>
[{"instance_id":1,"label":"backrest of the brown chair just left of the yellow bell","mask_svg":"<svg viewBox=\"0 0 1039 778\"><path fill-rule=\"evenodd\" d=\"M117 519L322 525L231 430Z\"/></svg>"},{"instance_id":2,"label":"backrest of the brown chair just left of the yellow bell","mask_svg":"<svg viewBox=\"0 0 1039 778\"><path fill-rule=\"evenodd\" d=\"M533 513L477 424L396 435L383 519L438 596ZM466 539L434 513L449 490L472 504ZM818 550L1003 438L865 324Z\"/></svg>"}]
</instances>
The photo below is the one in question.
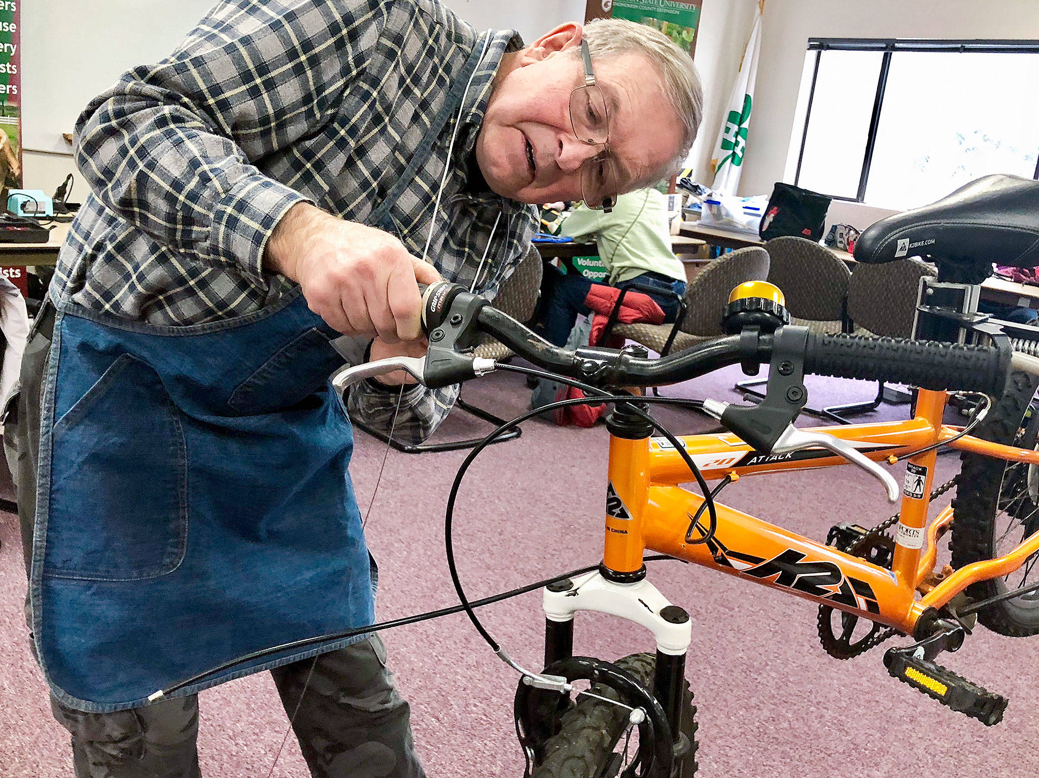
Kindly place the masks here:
<instances>
[{"instance_id":1,"label":"backrest of the brown chair just left of the yellow bell","mask_svg":"<svg viewBox=\"0 0 1039 778\"><path fill-rule=\"evenodd\" d=\"M686 290L686 318L682 330L695 336L721 336L721 315L732 288L748 280L765 280L769 252L757 246L738 248L704 267Z\"/></svg>"}]
</instances>

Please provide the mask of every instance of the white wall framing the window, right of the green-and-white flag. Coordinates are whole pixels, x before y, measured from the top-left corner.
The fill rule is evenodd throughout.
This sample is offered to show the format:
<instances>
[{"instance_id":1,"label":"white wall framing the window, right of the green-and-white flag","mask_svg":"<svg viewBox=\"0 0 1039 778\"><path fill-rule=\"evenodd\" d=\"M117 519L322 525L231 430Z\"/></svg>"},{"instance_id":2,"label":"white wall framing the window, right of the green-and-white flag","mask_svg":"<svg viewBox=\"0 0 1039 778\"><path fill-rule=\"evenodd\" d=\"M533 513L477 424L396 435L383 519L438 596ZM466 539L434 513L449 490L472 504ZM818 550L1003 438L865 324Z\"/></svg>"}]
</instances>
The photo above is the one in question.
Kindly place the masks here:
<instances>
[{"instance_id":1,"label":"white wall framing the window, right of the green-and-white flag","mask_svg":"<svg viewBox=\"0 0 1039 778\"><path fill-rule=\"evenodd\" d=\"M783 179L809 37L1039 38L1039 2L768 0L742 194L771 192Z\"/></svg>"}]
</instances>

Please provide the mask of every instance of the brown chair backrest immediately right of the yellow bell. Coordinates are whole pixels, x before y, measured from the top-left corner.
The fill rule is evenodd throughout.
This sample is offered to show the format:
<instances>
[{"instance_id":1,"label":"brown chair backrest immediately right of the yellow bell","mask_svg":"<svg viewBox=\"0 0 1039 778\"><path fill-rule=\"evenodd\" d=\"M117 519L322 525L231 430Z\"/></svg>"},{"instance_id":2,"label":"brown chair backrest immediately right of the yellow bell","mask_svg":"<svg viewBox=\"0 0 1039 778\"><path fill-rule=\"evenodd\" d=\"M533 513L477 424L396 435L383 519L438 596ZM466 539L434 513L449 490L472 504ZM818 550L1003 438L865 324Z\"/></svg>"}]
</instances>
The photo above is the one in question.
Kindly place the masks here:
<instances>
[{"instance_id":1,"label":"brown chair backrest immediately right of the yellow bell","mask_svg":"<svg viewBox=\"0 0 1039 778\"><path fill-rule=\"evenodd\" d=\"M818 243L785 236L765 244L769 283L782 290L787 310L796 319L841 321L851 271L832 251Z\"/></svg>"}]
</instances>

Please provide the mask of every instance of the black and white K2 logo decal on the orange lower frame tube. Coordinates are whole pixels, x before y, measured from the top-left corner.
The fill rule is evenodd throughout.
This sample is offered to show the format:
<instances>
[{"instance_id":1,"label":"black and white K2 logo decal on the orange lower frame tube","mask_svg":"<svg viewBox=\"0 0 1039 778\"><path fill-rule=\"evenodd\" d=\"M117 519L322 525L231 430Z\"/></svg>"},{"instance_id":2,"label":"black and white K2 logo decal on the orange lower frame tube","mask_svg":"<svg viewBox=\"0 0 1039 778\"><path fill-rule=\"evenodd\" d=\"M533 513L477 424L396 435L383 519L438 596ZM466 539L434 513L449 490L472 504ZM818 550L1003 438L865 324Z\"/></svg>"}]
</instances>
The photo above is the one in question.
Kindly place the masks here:
<instances>
[{"instance_id":1,"label":"black and white K2 logo decal on the orange lower frame tube","mask_svg":"<svg viewBox=\"0 0 1039 778\"><path fill-rule=\"evenodd\" d=\"M707 536L707 530L699 521L694 529L700 533L700 537ZM870 613L880 613L873 587L864 581L845 575L833 562L806 562L805 555L794 548L788 548L772 559L763 559L726 548L717 535L707 541L707 546L715 564L721 567L730 567L744 575L768 581L812 597Z\"/></svg>"}]
</instances>

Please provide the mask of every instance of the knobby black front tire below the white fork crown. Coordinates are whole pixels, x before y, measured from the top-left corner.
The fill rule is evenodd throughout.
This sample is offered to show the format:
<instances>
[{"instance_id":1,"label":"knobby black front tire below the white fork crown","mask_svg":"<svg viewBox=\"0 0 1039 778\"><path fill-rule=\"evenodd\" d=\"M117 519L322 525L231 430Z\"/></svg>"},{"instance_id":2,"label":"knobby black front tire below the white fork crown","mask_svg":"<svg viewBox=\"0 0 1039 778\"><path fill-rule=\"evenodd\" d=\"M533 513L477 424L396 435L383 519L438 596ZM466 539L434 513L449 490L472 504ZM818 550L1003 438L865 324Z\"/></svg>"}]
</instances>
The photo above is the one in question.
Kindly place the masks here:
<instances>
[{"instance_id":1,"label":"knobby black front tire below the white fork crown","mask_svg":"<svg viewBox=\"0 0 1039 778\"><path fill-rule=\"evenodd\" d=\"M636 653L614 663L646 689L652 689L657 658ZM685 751L677 756L671 778L691 778L696 773L696 706L689 681L685 681L682 705L682 734ZM632 759L639 751L638 730L629 725L628 712L606 697L617 700L615 690L593 685L595 697L580 695L562 714L558 731L538 749L531 778L634 778L638 764ZM654 773L656 775L656 773ZM665 777L658 777L665 778Z\"/></svg>"}]
</instances>

